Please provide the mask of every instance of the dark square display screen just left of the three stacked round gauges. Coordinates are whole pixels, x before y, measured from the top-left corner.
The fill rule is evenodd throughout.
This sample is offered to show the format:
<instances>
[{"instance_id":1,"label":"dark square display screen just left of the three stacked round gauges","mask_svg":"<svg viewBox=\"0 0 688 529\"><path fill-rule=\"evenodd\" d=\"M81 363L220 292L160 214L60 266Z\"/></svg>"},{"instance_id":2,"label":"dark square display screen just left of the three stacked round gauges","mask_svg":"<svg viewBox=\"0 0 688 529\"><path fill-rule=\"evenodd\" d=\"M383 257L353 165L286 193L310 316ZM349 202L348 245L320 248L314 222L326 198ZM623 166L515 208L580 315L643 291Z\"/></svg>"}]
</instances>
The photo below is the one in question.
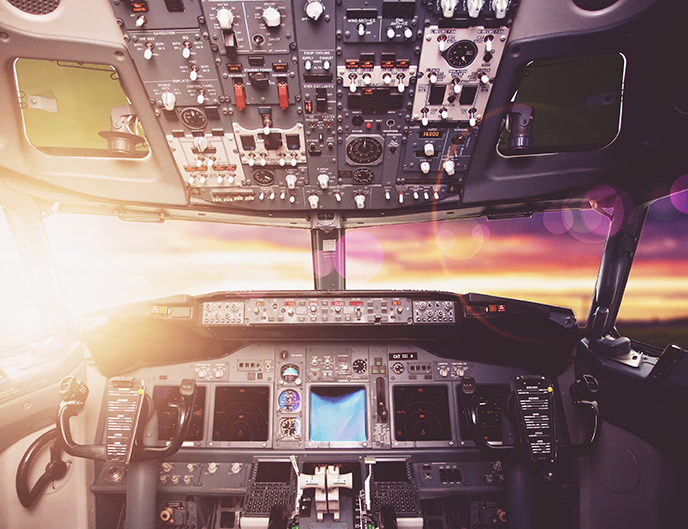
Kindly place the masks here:
<instances>
[{"instance_id":1,"label":"dark square display screen just left of the three stacked round gauges","mask_svg":"<svg viewBox=\"0 0 688 529\"><path fill-rule=\"evenodd\" d=\"M270 389L215 388L213 441L267 441Z\"/></svg>"}]
</instances>

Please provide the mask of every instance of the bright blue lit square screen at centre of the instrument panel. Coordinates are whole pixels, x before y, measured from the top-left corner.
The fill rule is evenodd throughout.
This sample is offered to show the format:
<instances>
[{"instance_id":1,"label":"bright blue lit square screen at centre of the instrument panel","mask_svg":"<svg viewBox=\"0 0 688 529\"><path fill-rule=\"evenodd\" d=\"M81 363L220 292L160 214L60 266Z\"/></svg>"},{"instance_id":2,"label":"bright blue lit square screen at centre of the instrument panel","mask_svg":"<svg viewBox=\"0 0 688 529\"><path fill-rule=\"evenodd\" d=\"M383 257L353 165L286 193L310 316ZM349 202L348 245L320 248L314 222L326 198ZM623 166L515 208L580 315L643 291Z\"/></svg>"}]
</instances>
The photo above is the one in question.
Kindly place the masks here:
<instances>
[{"instance_id":1,"label":"bright blue lit square screen at centre of the instrument panel","mask_svg":"<svg viewBox=\"0 0 688 529\"><path fill-rule=\"evenodd\" d=\"M362 387L311 387L310 438L318 442L362 442L366 437L366 392Z\"/></svg>"}]
</instances>

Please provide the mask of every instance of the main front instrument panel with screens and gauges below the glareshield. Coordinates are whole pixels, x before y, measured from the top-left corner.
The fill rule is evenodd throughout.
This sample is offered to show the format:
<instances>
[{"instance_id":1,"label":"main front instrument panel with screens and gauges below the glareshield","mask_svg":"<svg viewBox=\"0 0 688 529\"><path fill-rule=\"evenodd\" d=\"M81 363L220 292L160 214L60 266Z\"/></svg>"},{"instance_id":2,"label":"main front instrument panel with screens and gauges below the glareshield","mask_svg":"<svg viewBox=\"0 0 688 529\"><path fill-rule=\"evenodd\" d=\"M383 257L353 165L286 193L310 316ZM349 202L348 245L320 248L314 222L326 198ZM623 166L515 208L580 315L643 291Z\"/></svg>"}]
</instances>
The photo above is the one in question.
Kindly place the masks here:
<instances>
[{"instance_id":1,"label":"main front instrument panel with screens and gauges below the glareshield","mask_svg":"<svg viewBox=\"0 0 688 529\"><path fill-rule=\"evenodd\" d=\"M447 360L412 345L267 342L212 362L133 373L143 379L168 440L175 384L198 394L184 446L250 449L395 449L472 446L462 426L461 378L482 381L482 423L500 443L512 368Z\"/></svg>"}]
</instances>

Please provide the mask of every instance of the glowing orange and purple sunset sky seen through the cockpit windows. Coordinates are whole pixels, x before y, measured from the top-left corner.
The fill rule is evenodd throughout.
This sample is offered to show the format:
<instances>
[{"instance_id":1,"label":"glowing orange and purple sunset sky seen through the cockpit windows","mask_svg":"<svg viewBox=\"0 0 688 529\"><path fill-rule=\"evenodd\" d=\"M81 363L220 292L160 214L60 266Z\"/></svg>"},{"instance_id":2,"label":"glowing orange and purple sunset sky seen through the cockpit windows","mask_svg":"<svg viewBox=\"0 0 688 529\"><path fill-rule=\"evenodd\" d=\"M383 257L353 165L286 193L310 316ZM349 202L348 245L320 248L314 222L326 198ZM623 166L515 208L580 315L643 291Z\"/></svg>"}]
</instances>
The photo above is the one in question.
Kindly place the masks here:
<instances>
[{"instance_id":1,"label":"glowing orange and purple sunset sky seen through the cockpit windows","mask_svg":"<svg viewBox=\"0 0 688 529\"><path fill-rule=\"evenodd\" d=\"M621 318L688 316L685 206L669 199L653 206ZM345 235L347 288L481 292L567 306L584 322L607 228L588 210L354 230ZM46 229L77 322L90 311L173 294L313 288L305 230L60 214ZM4 288L30 297L14 279ZM16 310L7 317L18 313L27 321L17 328L36 317Z\"/></svg>"}]
</instances>

